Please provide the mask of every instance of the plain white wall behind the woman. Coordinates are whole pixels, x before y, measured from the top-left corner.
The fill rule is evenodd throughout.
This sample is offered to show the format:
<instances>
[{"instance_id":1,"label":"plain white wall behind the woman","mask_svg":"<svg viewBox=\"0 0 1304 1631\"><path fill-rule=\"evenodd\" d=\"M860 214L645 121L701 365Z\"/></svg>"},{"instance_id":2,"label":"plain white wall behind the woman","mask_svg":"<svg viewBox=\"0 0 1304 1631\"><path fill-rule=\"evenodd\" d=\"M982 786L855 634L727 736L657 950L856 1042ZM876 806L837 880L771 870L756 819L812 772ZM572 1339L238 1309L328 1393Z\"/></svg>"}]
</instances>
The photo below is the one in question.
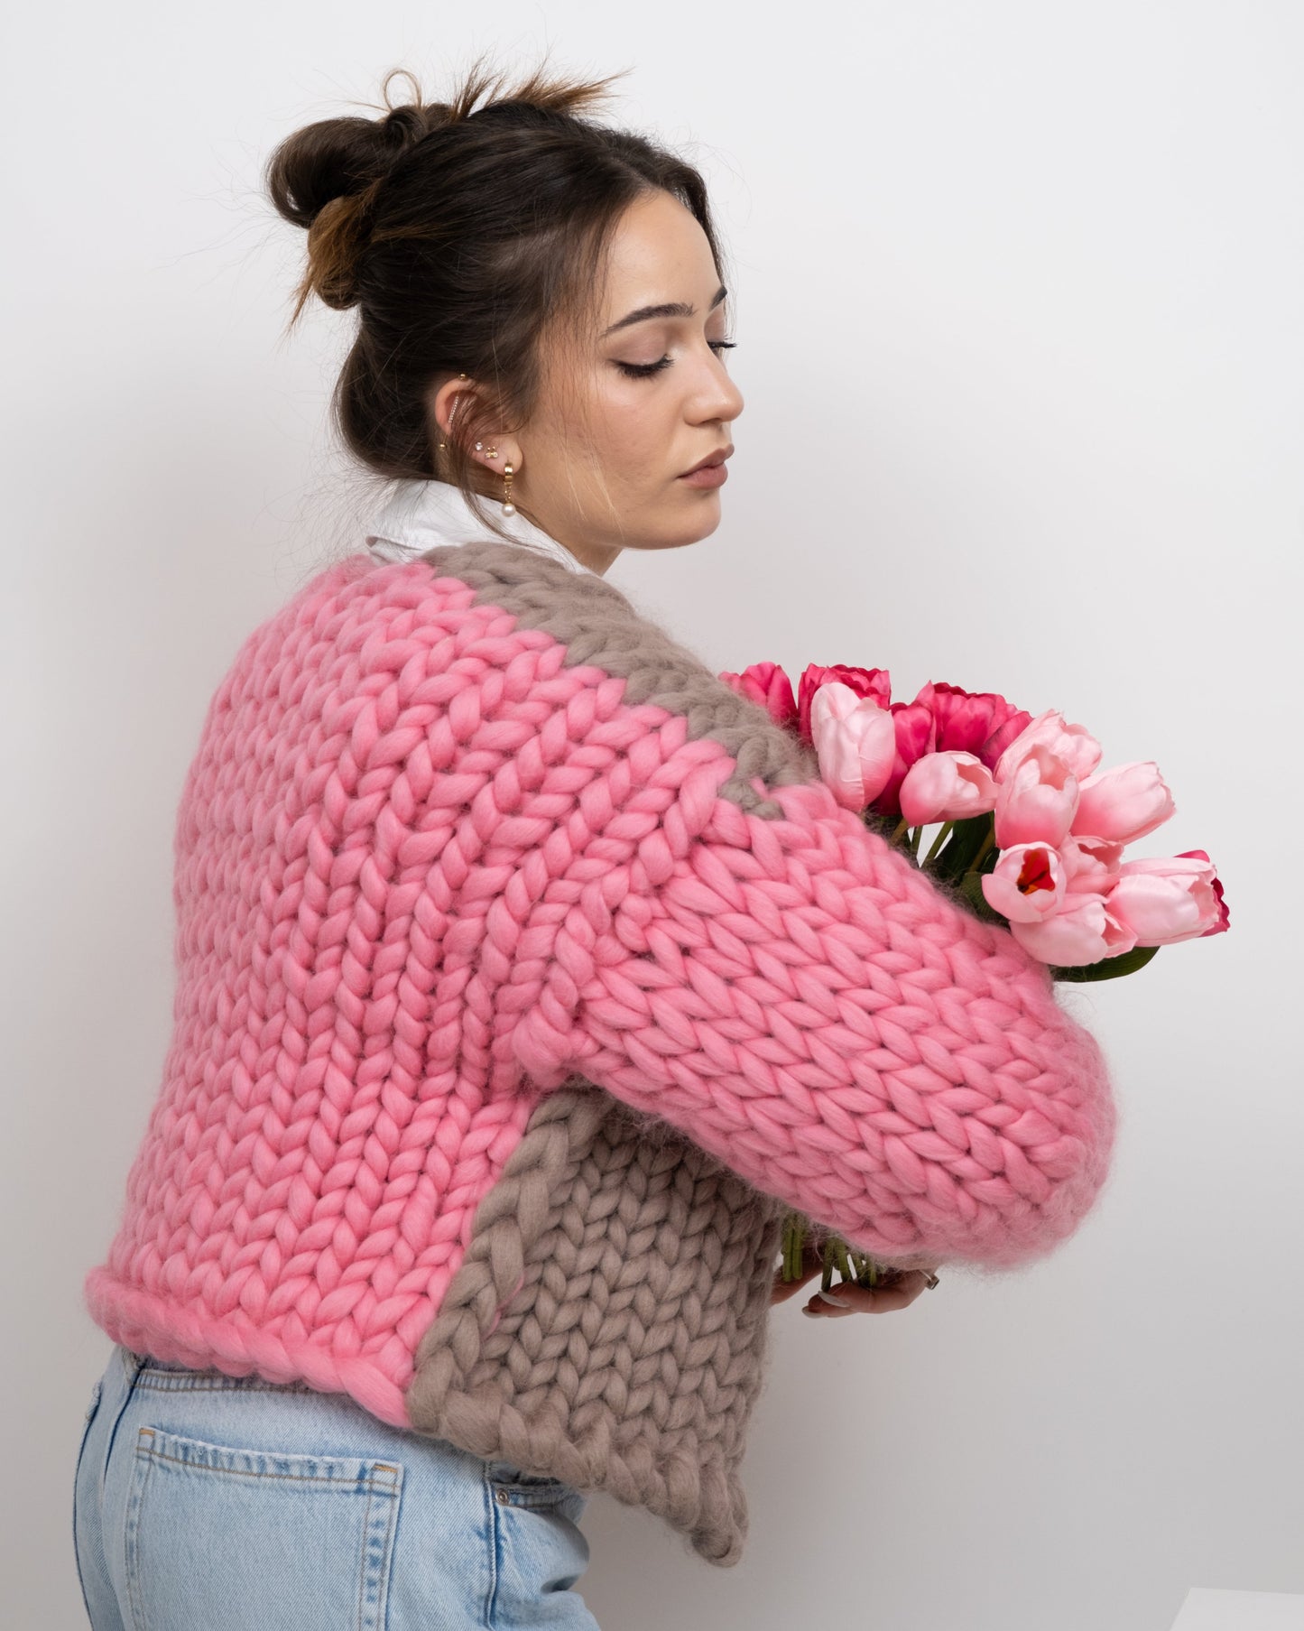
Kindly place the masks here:
<instances>
[{"instance_id":1,"label":"plain white wall behind the woman","mask_svg":"<svg viewBox=\"0 0 1304 1631\"><path fill-rule=\"evenodd\" d=\"M236 646L360 537L350 316L282 336L272 144L479 47L634 73L732 250L725 520L610 577L716 667L892 669L1156 758L1232 930L1064 995L1113 1174L1019 1274L774 1313L743 1562L597 1496L605 1631L1162 1631L1304 1590L1297 1016L1304 8L1291 0L227 0L31 8L5 95L5 1623L68 1538L114 1228L171 1005L171 824ZM20 152L21 142L21 152ZM1294 979L1293 979L1294 977ZM20 1522L21 1518L21 1522Z\"/></svg>"}]
</instances>

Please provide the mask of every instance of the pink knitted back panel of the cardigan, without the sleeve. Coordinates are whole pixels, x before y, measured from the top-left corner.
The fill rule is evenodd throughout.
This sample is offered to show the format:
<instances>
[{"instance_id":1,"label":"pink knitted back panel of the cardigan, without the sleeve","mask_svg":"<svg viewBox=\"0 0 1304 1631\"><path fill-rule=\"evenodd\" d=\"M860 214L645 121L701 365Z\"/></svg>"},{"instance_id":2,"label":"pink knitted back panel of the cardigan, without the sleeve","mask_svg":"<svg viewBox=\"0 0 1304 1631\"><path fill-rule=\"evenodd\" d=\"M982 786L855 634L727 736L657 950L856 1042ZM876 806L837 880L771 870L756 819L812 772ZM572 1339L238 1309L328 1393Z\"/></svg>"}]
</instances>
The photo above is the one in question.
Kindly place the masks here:
<instances>
[{"instance_id":1,"label":"pink knitted back panel of the cardigan, without the sleeve","mask_svg":"<svg viewBox=\"0 0 1304 1631\"><path fill-rule=\"evenodd\" d=\"M173 1045L88 1279L116 1341L390 1421L540 1096L494 1054L484 926L570 771L515 822L492 776L611 683L471 599L354 558L218 688L178 814Z\"/></svg>"}]
</instances>

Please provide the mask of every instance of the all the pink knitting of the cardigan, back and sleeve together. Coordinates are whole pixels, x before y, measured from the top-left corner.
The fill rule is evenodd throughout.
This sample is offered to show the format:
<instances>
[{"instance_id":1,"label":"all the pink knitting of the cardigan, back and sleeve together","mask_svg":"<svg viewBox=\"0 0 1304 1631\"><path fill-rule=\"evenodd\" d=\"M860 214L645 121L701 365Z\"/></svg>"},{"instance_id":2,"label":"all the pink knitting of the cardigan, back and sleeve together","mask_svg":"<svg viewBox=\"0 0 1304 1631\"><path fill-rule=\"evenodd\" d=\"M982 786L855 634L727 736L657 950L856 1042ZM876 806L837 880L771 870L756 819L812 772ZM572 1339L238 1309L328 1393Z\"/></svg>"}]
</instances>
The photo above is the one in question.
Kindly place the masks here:
<instances>
[{"instance_id":1,"label":"all the pink knitting of the cardigan, back and sleeve together","mask_svg":"<svg viewBox=\"0 0 1304 1631\"><path fill-rule=\"evenodd\" d=\"M572 1068L885 1256L1012 1262L1090 1205L1104 1062L1012 938L823 786L743 812L719 742L564 659L365 556L241 648L178 812L165 1080L88 1280L117 1341L403 1421L474 1209Z\"/></svg>"}]
</instances>

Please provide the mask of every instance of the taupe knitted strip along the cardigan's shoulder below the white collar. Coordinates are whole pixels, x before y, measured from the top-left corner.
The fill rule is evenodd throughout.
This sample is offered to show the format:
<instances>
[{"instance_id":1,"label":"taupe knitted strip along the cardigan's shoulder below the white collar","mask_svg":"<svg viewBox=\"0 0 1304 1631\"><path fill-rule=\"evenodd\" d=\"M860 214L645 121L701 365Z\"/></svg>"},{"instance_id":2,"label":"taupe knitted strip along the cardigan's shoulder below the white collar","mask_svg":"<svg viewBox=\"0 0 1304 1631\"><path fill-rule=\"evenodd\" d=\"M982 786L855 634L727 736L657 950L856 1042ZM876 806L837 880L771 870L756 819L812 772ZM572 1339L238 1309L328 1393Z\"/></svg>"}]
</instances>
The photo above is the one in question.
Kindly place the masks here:
<instances>
[{"instance_id":1,"label":"taupe knitted strip along the cardigan's shoulder below the white collar","mask_svg":"<svg viewBox=\"0 0 1304 1631\"><path fill-rule=\"evenodd\" d=\"M624 700L655 703L688 719L688 736L709 736L738 762L720 796L755 816L781 816L751 786L817 781L815 750L778 726L760 703L738 696L686 646L637 612L603 577L572 572L538 550L497 540L445 545L421 559L476 590L523 628L538 628L566 646L566 665L592 662L626 680Z\"/></svg>"}]
</instances>

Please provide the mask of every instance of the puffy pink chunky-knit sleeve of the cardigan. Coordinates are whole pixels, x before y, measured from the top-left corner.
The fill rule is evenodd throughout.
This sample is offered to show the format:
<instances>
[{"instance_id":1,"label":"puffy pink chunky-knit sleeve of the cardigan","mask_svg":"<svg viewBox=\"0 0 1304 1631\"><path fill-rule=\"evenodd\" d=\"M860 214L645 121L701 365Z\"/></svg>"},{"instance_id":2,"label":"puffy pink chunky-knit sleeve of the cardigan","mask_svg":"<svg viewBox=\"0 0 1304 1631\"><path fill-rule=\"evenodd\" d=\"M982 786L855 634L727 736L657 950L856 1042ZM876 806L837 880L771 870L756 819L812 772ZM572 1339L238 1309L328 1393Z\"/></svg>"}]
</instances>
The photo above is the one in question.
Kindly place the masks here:
<instances>
[{"instance_id":1,"label":"puffy pink chunky-knit sleeve of the cardigan","mask_svg":"<svg viewBox=\"0 0 1304 1631\"><path fill-rule=\"evenodd\" d=\"M880 1261L1045 1254L1107 1178L1099 1044L828 788L756 783L763 816L720 794L735 770L652 734L587 789L592 837L517 946L522 1065L582 1073Z\"/></svg>"}]
</instances>

